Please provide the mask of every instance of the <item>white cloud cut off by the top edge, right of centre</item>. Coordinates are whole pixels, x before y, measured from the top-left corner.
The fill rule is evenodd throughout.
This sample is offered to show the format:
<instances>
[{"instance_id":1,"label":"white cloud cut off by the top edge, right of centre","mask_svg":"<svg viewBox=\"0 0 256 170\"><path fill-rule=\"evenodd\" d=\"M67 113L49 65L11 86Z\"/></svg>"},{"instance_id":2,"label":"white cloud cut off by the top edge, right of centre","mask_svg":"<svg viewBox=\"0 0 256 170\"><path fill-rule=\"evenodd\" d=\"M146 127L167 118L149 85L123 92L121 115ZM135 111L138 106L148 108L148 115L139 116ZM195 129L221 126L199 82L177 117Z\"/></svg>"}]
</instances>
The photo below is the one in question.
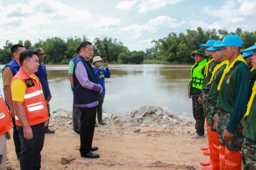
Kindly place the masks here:
<instances>
[{"instance_id":1,"label":"white cloud cut off by the top edge, right of centre","mask_svg":"<svg viewBox=\"0 0 256 170\"><path fill-rule=\"evenodd\" d=\"M139 13L146 13L164 7L167 4L174 5L181 1L183 0L143 0L139 4Z\"/></svg>"}]
</instances>

